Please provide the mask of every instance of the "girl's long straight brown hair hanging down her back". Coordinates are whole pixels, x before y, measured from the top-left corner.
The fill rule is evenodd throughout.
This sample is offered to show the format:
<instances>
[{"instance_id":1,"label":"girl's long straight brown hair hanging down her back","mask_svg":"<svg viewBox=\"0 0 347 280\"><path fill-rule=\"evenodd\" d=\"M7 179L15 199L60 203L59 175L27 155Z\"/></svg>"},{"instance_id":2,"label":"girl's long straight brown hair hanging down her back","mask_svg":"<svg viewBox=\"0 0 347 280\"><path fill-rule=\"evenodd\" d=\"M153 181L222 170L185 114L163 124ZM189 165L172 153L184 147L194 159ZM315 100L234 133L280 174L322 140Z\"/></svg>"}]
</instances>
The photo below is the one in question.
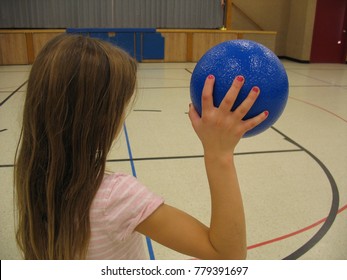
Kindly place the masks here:
<instances>
[{"instance_id":1,"label":"girl's long straight brown hair hanging down her back","mask_svg":"<svg viewBox=\"0 0 347 280\"><path fill-rule=\"evenodd\" d=\"M136 83L136 62L106 42L51 40L28 81L15 165L25 259L83 259L89 210Z\"/></svg>"}]
</instances>

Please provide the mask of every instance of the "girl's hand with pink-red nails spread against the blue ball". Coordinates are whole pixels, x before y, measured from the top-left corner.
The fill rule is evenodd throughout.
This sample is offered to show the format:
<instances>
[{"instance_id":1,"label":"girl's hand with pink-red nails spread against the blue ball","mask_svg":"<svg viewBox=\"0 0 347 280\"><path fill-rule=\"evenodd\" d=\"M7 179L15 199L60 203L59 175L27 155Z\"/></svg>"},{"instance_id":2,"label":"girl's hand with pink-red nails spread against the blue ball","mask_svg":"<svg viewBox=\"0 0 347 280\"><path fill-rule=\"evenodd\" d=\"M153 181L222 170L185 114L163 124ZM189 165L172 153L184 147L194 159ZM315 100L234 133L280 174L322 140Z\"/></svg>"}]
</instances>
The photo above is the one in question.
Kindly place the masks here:
<instances>
[{"instance_id":1,"label":"girl's hand with pink-red nails spread against the blue ball","mask_svg":"<svg viewBox=\"0 0 347 280\"><path fill-rule=\"evenodd\" d=\"M193 105L189 108L189 118L192 126L202 142L206 153L219 156L234 152L241 137L263 122L268 111L248 120L242 120L259 96L260 89L253 87L240 106L231 112L231 108L243 86L244 78L237 76L225 95L219 108L213 105L213 86L215 77L209 75L202 92L202 116L196 112Z\"/></svg>"}]
</instances>

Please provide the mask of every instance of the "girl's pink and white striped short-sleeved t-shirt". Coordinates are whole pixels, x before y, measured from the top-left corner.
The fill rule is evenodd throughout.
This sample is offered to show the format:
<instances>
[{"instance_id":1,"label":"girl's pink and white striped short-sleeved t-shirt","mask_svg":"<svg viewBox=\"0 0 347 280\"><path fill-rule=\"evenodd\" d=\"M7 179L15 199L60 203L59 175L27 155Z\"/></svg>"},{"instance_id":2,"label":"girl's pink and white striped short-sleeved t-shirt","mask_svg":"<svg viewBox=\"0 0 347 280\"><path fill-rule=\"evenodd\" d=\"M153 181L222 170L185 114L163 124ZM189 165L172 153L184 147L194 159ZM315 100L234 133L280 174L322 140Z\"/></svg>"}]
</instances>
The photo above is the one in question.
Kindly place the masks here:
<instances>
[{"instance_id":1,"label":"girl's pink and white striped short-sleeved t-shirt","mask_svg":"<svg viewBox=\"0 0 347 280\"><path fill-rule=\"evenodd\" d=\"M130 175L105 175L90 209L87 259L147 259L144 237L134 229L163 202Z\"/></svg>"}]
</instances>

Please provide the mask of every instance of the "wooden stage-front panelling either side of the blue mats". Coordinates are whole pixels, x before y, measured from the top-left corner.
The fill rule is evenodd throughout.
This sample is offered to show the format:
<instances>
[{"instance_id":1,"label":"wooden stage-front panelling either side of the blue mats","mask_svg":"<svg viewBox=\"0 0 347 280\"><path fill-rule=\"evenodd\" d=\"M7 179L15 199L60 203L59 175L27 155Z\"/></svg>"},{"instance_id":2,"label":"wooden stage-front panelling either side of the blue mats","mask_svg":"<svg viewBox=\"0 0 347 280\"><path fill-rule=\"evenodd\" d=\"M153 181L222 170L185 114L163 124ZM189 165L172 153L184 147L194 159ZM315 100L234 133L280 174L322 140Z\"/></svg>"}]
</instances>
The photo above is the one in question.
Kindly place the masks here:
<instances>
[{"instance_id":1,"label":"wooden stage-front panelling either side of the blue mats","mask_svg":"<svg viewBox=\"0 0 347 280\"><path fill-rule=\"evenodd\" d=\"M33 63L42 47L64 32L65 29L0 29L0 65ZM276 46L273 31L157 29L157 32L165 38L164 62L196 62L213 46L241 38L257 41L271 50Z\"/></svg>"}]
</instances>

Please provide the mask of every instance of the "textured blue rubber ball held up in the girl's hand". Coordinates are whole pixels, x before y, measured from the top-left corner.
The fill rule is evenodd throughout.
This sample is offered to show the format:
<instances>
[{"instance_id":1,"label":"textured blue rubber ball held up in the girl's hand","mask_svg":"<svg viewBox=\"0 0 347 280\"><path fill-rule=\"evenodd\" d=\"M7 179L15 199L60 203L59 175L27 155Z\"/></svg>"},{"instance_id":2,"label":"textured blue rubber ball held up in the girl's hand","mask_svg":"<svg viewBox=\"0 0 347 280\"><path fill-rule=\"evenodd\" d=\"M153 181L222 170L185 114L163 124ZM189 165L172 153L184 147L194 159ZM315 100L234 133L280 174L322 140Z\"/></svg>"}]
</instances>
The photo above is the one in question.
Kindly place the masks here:
<instances>
[{"instance_id":1,"label":"textured blue rubber ball held up in the girl's hand","mask_svg":"<svg viewBox=\"0 0 347 280\"><path fill-rule=\"evenodd\" d=\"M231 108L232 111L242 103L253 86L260 88L260 95L244 120L265 110L269 111L269 116L244 137L265 131L281 116L288 100L288 77L281 61L265 46L249 40L226 41L211 48L201 57L190 81L190 97L200 116L201 93L210 74L215 76L213 102L216 107L238 75L244 76L245 83Z\"/></svg>"}]
</instances>

